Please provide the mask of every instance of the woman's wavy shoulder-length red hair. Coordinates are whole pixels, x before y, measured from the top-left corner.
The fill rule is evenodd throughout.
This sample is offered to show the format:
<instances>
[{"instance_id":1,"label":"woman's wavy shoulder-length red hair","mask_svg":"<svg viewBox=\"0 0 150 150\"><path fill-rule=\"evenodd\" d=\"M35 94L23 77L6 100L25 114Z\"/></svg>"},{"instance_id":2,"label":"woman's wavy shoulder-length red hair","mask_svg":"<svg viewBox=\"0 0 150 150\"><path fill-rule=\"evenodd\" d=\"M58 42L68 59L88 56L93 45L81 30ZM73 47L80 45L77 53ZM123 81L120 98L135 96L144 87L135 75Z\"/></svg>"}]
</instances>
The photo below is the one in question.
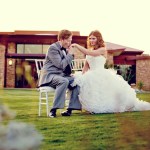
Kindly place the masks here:
<instances>
[{"instance_id":1,"label":"woman's wavy shoulder-length red hair","mask_svg":"<svg viewBox=\"0 0 150 150\"><path fill-rule=\"evenodd\" d=\"M98 30L94 30L94 31L91 31L91 33L89 34L89 36L87 38L87 48L93 47L93 46L91 46L90 41L89 41L89 37L91 35L93 35L97 38L97 44L94 46L94 49L98 49L100 47L105 47L105 43L104 43L102 34Z\"/></svg>"}]
</instances>

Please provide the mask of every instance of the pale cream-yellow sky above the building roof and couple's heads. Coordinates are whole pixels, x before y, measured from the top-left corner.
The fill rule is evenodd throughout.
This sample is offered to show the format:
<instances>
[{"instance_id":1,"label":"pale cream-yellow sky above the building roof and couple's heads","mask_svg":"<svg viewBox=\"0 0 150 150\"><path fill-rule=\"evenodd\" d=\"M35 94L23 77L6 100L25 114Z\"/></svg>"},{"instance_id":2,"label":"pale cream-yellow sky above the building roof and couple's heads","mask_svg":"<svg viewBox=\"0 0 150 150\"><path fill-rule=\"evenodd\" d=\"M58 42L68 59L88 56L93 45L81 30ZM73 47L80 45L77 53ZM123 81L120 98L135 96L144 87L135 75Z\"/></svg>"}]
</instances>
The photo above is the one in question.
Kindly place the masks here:
<instances>
[{"instance_id":1,"label":"pale cream-yellow sky above the building roof and couple's heads","mask_svg":"<svg viewBox=\"0 0 150 150\"><path fill-rule=\"evenodd\" d=\"M0 0L0 32L69 29L150 54L150 0Z\"/></svg>"}]
</instances>

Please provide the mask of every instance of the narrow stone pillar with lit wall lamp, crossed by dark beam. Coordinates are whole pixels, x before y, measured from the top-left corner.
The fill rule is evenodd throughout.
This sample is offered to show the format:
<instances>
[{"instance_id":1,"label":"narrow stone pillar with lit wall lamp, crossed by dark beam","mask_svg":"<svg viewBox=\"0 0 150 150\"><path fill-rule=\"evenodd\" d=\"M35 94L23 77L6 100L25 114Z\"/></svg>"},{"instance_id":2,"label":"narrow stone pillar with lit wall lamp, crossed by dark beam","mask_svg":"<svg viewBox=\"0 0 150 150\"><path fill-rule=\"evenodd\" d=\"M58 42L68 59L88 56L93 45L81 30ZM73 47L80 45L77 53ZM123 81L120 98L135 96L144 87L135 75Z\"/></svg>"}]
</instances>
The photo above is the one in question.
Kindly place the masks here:
<instances>
[{"instance_id":1,"label":"narrow stone pillar with lit wall lamp, crossed by dark beam","mask_svg":"<svg viewBox=\"0 0 150 150\"><path fill-rule=\"evenodd\" d=\"M16 44L8 43L8 53L16 52ZM7 58L7 71L6 71L6 87L15 87L15 59ZM10 61L12 64L9 64Z\"/></svg>"}]
</instances>

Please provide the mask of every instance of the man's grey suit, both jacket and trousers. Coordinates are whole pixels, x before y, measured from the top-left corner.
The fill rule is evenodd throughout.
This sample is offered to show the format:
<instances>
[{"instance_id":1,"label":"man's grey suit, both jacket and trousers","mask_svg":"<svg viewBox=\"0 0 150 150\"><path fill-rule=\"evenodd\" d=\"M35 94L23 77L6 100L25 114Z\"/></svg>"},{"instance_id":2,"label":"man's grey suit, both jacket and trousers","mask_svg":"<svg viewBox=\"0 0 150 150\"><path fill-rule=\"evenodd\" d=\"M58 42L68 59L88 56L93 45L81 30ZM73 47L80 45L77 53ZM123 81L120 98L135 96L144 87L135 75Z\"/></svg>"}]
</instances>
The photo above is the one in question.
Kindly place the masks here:
<instances>
[{"instance_id":1,"label":"man's grey suit, both jacket and trousers","mask_svg":"<svg viewBox=\"0 0 150 150\"><path fill-rule=\"evenodd\" d=\"M74 80L72 76L69 76L72 60L73 55L64 54L59 42L53 43L47 51L45 63L40 74L39 86L48 85L56 89L52 109L64 108L68 88L72 91L68 108L81 109L78 99L79 87L72 88L70 86ZM67 68L69 69L66 70Z\"/></svg>"}]
</instances>

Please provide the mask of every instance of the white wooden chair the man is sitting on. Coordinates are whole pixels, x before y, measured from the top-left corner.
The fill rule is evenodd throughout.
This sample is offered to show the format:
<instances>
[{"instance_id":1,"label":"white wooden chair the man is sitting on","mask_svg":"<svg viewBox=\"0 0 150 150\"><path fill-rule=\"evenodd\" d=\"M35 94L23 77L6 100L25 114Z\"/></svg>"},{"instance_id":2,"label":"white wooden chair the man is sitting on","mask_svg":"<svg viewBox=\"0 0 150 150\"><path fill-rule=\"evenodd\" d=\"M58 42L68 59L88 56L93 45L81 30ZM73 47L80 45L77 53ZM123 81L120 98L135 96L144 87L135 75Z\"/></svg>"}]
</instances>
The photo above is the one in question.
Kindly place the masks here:
<instances>
[{"instance_id":1,"label":"white wooden chair the man is sitting on","mask_svg":"<svg viewBox=\"0 0 150 150\"><path fill-rule=\"evenodd\" d=\"M35 59L36 70L38 78L40 77L40 72L44 64L44 59ZM54 93L55 89L49 86L39 87L39 116L41 116L42 105L46 105L47 116L49 114L49 99L48 93Z\"/></svg>"}]
</instances>

